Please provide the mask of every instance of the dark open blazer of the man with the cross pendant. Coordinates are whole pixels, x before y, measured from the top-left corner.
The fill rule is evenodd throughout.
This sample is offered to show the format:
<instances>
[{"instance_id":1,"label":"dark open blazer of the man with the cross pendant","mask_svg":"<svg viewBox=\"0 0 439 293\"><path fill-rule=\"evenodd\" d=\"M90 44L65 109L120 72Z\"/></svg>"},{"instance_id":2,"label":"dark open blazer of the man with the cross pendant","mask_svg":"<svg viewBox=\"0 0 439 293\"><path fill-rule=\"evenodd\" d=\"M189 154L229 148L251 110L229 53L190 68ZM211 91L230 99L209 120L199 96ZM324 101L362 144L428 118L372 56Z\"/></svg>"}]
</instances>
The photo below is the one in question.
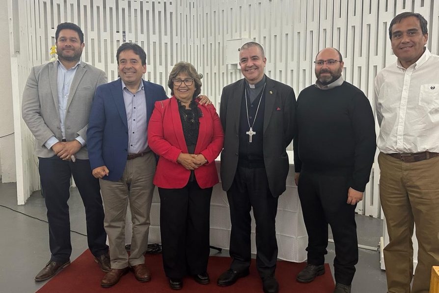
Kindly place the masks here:
<instances>
[{"instance_id":1,"label":"dark open blazer of the man with the cross pendant","mask_svg":"<svg viewBox=\"0 0 439 293\"><path fill-rule=\"evenodd\" d=\"M238 166L239 121L245 81L241 79L222 89L220 120L224 130L221 152L221 183L232 186ZM293 88L266 77L263 151L270 191L274 197L286 189L289 170L286 147L295 134L296 97Z\"/></svg>"}]
</instances>

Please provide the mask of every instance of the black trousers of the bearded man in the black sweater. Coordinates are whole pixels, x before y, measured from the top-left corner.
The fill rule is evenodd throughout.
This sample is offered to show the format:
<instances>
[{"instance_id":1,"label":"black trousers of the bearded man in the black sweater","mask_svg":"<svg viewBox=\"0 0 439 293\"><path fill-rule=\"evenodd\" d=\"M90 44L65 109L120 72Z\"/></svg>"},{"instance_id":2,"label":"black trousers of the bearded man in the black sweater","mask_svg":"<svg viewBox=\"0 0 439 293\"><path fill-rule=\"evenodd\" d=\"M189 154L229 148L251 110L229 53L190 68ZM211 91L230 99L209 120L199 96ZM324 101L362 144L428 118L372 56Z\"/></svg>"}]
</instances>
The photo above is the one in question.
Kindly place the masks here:
<instances>
[{"instance_id":1,"label":"black trousers of the bearded man in the black sweater","mask_svg":"<svg viewBox=\"0 0 439 293\"><path fill-rule=\"evenodd\" d=\"M334 277L350 285L358 263L357 224L355 207L346 203L349 176L337 176L302 171L299 178L299 198L308 233L308 264L324 264L328 246L328 224L335 244Z\"/></svg>"}]
</instances>

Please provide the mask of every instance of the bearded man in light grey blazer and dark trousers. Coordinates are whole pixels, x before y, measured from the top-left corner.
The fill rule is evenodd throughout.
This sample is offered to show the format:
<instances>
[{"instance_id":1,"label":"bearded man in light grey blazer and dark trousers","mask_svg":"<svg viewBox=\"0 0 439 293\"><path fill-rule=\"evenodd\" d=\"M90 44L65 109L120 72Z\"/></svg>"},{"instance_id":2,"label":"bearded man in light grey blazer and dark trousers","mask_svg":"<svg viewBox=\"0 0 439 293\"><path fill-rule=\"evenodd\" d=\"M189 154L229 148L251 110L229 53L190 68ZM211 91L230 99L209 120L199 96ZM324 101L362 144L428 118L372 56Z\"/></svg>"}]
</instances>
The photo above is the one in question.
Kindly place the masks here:
<instances>
[{"instance_id":1,"label":"bearded man in light grey blazer and dark trousers","mask_svg":"<svg viewBox=\"0 0 439 293\"><path fill-rule=\"evenodd\" d=\"M101 269L110 270L99 181L91 174L86 147L91 103L107 76L81 61L84 35L77 25L59 24L55 39L58 60L32 68L22 102L23 119L35 136L49 223L51 259L35 281L47 280L70 264L67 201L72 175L85 206L88 247Z\"/></svg>"}]
</instances>

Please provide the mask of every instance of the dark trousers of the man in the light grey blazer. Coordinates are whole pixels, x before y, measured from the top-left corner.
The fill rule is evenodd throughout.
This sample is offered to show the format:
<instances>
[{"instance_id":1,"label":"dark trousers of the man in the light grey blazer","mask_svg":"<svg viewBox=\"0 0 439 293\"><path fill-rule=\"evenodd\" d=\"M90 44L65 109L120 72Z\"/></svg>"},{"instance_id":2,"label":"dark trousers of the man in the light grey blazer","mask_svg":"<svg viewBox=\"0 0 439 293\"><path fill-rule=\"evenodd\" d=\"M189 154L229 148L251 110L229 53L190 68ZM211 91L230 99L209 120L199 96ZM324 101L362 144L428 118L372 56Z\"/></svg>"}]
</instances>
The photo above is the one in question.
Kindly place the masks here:
<instances>
[{"instance_id":1,"label":"dark trousers of the man in the light grey blazer","mask_svg":"<svg viewBox=\"0 0 439 293\"><path fill-rule=\"evenodd\" d=\"M92 176L90 162L79 159L76 159L76 162L63 161L57 156L38 159L49 222L51 260L65 262L70 259L72 253L67 205L72 175L85 207L88 247L94 256L107 253L107 234L104 230L104 208L99 180Z\"/></svg>"}]
</instances>

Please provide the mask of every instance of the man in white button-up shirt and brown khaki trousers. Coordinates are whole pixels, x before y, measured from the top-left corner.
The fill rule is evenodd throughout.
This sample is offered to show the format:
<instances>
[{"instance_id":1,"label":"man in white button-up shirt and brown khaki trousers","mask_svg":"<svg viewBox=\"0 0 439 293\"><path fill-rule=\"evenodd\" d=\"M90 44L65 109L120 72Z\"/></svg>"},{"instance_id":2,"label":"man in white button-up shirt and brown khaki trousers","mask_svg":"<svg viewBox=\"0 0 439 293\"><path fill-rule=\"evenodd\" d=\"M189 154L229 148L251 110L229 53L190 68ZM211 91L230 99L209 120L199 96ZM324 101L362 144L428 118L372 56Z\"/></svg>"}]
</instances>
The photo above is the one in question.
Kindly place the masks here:
<instances>
[{"instance_id":1,"label":"man in white button-up shirt and brown khaki trousers","mask_svg":"<svg viewBox=\"0 0 439 293\"><path fill-rule=\"evenodd\" d=\"M425 48L427 21L418 13L397 15L389 37L398 60L375 78L387 287L428 293L431 266L439 264L439 57ZM411 291L414 223L419 250Z\"/></svg>"}]
</instances>

